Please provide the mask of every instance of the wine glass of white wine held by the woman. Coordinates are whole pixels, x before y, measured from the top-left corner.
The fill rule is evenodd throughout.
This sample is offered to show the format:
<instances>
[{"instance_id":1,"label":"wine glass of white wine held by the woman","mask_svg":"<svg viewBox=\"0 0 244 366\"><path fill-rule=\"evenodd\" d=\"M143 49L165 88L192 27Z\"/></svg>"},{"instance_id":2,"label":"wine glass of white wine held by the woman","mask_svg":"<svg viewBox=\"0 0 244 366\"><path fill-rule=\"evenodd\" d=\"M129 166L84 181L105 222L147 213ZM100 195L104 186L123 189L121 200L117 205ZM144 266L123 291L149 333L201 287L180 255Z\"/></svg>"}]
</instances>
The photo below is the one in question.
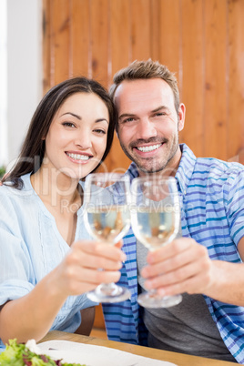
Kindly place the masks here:
<instances>
[{"instance_id":1,"label":"wine glass of white wine held by the woman","mask_svg":"<svg viewBox=\"0 0 244 366\"><path fill-rule=\"evenodd\" d=\"M114 245L130 228L129 178L118 173L94 173L85 181L85 225L94 239ZM102 270L102 269L101 269ZM130 298L127 288L102 283L86 294L97 302L119 302Z\"/></svg>"}]
</instances>

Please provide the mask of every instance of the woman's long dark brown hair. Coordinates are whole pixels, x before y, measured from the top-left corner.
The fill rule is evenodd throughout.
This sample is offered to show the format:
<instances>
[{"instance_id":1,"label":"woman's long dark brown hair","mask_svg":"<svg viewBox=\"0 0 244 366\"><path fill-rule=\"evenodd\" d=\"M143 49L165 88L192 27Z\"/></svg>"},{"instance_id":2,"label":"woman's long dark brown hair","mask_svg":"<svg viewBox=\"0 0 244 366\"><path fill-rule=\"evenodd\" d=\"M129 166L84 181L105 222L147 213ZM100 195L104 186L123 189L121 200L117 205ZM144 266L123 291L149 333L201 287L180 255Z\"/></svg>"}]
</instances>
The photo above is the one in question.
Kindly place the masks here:
<instances>
[{"instance_id":1,"label":"woman's long dark brown hair","mask_svg":"<svg viewBox=\"0 0 244 366\"><path fill-rule=\"evenodd\" d=\"M109 114L107 147L104 156L97 167L105 160L112 146L114 137L116 120L115 107L107 93L107 89L101 86L97 81L88 79L84 76L74 77L52 87L46 93L45 97L43 97L32 117L15 167L11 169L5 178L3 178L3 183L9 182L7 184L11 187L21 189L23 187L23 181L20 177L27 173L36 173L41 167L46 149L46 143L43 138L46 137L58 108L63 105L67 97L70 97L75 93L95 93L107 106Z\"/></svg>"}]
</instances>

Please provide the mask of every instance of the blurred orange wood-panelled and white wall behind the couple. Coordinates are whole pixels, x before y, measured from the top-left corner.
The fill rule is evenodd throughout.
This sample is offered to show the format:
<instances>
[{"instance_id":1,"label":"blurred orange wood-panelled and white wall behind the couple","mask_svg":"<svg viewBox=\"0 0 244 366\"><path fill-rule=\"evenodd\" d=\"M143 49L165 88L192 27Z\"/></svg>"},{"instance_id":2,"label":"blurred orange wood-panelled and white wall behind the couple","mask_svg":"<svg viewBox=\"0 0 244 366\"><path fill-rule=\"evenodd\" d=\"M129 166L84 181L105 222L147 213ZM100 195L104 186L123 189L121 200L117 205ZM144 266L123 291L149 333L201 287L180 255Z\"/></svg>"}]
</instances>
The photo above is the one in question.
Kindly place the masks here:
<instances>
[{"instance_id":1,"label":"blurred orange wood-panelled and white wall behind the couple","mask_svg":"<svg viewBox=\"0 0 244 366\"><path fill-rule=\"evenodd\" d=\"M149 57L178 78L180 142L244 163L243 19L244 0L0 0L0 166L17 157L51 86L84 75L109 87ZM129 165L117 138L106 163Z\"/></svg>"}]
</instances>

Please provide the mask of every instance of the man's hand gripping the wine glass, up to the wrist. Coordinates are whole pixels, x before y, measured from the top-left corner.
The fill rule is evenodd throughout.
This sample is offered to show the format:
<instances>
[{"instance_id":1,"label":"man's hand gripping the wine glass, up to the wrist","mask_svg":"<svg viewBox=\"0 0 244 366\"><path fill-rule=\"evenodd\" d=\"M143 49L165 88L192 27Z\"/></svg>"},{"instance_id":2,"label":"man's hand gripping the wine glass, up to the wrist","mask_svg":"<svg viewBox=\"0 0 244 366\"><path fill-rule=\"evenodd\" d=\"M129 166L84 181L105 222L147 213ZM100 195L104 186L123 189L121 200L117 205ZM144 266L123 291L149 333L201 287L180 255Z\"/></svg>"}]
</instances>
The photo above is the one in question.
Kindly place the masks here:
<instances>
[{"instance_id":1,"label":"man's hand gripping the wine glass, up to the wrist","mask_svg":"<svg viewBox=\"0 0 244 366\"><path fill-rule=\"evenodd\" d=\"M212 283L212 261L208 250L194 239L175 239L170 244L150 251L148 266L141 274L145 287L158 289L161 295L206 293Z\"/></svg>"}]
</instances>

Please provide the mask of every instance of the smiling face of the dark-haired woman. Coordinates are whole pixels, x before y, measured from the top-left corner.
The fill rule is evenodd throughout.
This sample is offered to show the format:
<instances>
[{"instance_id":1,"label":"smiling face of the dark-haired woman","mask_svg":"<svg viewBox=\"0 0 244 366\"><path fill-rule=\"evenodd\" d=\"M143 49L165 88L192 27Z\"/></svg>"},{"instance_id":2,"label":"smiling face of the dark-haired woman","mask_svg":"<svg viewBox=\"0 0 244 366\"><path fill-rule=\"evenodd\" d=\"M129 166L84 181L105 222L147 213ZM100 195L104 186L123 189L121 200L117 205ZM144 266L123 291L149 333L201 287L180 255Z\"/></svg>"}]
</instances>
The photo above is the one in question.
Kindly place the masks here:
<instances>
[{"instance_id":1,"label":"smiling face of the dark-haired woman","mask_svg":"<svg viewBox=\"0 0 244 366\"><path fill-rule=\"evenodd\" d=\"M107 146L109 114L95 93L76 93L56 112L46 135L42 168L84 178L97 167Z\"/></svg>"}]
</instances>

